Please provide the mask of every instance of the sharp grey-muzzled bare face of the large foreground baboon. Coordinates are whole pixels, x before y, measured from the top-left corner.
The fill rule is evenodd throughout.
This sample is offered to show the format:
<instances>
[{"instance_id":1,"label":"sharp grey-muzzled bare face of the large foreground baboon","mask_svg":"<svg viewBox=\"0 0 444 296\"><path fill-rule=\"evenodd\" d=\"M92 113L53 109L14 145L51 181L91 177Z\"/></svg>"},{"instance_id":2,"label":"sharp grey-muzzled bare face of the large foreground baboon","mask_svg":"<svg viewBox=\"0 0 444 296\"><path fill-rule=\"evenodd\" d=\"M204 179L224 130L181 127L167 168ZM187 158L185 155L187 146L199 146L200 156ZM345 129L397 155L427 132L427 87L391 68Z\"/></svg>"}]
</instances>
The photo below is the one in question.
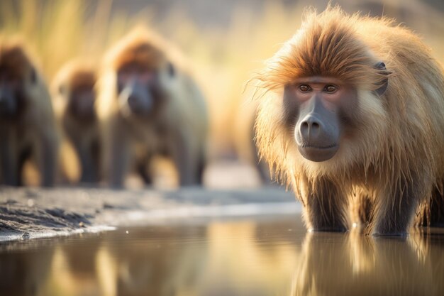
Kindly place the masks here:
<instances>
[{"instance_id":1,"label":"sharp grey-muzzled bare face of the large foreground baboon","mask_svg":"<svg viewBox=\"0 0 444 296\"><path fill-rule=\"evenodd\" d=\"M331 77L304 77L285 88L284 110L304 158L325 161L339 149L357 107L353 87Z\"/></svg>"}]
</instances>

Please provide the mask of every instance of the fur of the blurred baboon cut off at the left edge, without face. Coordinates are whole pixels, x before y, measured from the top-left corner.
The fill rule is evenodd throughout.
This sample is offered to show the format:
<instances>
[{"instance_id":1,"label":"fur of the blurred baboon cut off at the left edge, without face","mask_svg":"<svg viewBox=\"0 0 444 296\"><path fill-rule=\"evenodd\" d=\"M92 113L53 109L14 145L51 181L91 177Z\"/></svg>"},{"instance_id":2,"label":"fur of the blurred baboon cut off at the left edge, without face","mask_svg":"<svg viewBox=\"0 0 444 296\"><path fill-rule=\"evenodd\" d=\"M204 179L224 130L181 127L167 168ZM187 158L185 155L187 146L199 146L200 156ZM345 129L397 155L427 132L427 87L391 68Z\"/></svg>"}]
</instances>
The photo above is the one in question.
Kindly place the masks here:
<instances>
[{"instance_id":1,"label":"fur of the blurred baboon cut off at the left edge, without face","mask_svg":"<svg viewBox=\"0 0 444 296\"><path fill-rule=\"evenodd\" d=\"M23 109L19 110L20 115L16 119L0 119L0 150L3 151L0 151L0 157L5 158L10 166L9 172L0 176L0 179L5 182L6 178L18 175L13 183L21 185L19 159L23 151L30 149L30 156L35 160L40 173L40 183L52 185L58 136L47 84L19 38L0 36L0 67L20 82L24 99Z\"/></svg>"}]
</instances>

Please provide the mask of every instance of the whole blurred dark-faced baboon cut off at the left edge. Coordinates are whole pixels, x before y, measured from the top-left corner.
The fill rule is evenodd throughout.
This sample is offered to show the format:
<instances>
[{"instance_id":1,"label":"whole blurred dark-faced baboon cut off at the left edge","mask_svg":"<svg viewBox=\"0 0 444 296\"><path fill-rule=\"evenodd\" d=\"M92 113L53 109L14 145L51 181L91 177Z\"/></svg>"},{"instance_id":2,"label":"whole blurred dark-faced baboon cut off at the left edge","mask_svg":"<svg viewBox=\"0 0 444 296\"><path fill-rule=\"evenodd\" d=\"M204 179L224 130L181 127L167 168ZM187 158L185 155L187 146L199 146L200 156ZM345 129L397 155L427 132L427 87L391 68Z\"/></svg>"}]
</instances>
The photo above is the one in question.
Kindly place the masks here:
<instances>
[{"instance_id":1,"label":"whole blurred dark-faced baboon cut off at the left edge","mask_svg":"<svg viewBox=\"0 0 444 296\"><path fill-rule=\"evenodd\" d=\"M20 41L0 38L0 182L22 185L33 159L40 183L54 182L57 132L48 88Z\"/></svg>"}]
</instances>

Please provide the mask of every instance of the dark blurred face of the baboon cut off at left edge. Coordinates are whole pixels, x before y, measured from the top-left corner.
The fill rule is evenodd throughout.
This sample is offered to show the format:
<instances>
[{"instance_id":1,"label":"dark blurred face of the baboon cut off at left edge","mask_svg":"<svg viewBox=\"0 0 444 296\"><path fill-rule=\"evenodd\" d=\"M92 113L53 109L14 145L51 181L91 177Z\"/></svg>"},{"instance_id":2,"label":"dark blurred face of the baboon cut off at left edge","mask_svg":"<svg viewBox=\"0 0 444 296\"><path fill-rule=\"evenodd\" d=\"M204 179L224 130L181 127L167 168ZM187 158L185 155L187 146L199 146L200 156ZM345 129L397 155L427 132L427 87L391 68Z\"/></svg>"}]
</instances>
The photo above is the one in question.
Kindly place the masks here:
<instances>
[{"instance_id":1,"label":"dark blurred face of the baboon cut off at left edge","mask_svg":"<svg viewBox=\"0 0 444 296\"><path fill-rule=\"evenodd\" d=\"M35 80L33 70L30 74L31 82ZM6 119L17 117L23 111L25 94L23 92L23 78L13 69L0 63L0 116Z\"/></svg>"}]
</instances>

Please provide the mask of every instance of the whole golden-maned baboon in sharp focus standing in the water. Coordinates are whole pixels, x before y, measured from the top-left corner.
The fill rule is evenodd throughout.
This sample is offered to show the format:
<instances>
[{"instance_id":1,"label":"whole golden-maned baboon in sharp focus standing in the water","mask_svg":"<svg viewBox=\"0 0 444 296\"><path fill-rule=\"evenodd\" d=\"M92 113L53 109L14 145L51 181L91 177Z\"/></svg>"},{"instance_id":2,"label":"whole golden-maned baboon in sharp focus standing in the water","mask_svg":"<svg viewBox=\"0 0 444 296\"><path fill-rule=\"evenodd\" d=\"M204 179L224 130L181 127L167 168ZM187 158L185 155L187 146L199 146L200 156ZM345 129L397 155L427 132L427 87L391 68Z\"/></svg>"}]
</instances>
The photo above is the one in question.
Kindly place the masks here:
<instances>
[{"instance_id":1,"label":"whole golden-maned baboon in sharp focus standing in the water","mask_svg":"<svg viewBox=\"0 0 444 296\"><path fill-rule=\"evenodd\" d=\"M357 202L367 233L406 234L444 177L444 77L420 38L387 18L307 12L257 79L257 145L308 228L349 229Z\"/></svg>"}]
</instances>

